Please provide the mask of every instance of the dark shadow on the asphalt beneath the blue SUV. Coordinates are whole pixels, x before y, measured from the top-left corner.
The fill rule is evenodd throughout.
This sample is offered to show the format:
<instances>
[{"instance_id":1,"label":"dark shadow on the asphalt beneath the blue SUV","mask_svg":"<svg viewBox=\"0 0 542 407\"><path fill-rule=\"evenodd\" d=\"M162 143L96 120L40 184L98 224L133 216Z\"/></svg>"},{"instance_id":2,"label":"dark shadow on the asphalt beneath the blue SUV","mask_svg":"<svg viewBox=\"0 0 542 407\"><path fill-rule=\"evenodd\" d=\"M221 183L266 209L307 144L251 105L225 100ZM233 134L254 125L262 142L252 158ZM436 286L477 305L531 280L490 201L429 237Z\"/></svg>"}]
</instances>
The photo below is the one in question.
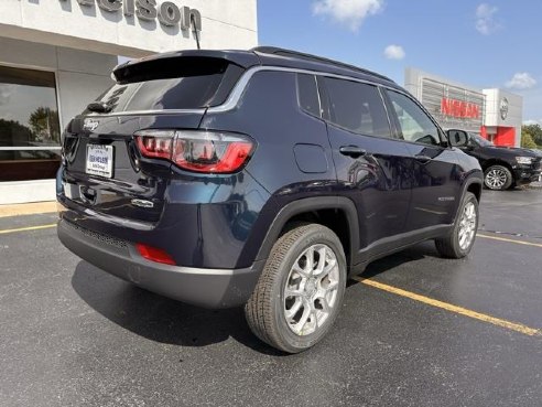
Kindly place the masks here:
<instances>
[{"instance_id":1,"label":"dark shadow on the asphalt beneath the blue SUV","mask_svg":"<svg viewBox=\"0 0 542 407\"><path fill-rule=\"evenodd\" d=\"M432 253L418 245L371 263L359 275L371 278ZM348 280L348 287L356 283ZM258 340L248 328L242 308L207 310L152 293L82 260L72 277L72 287L95 311L123 329L151 341L207 346L229 338L256 352L283 356L284 353Z\"/></svg>"}]
</instances>

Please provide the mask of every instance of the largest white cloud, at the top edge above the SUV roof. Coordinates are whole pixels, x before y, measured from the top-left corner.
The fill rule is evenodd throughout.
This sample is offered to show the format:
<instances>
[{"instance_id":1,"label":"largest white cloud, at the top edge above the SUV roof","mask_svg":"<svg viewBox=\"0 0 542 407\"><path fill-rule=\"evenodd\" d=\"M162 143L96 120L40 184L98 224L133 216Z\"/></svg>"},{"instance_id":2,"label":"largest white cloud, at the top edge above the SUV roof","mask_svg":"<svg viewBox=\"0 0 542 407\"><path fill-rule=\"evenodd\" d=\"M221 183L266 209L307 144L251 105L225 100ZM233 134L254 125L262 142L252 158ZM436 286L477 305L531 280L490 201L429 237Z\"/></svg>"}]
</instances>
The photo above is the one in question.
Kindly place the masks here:
<instances>
[{"instance_id":1,"label":"largest white cloud, at the top edge above the SUV roof","mask_svg":"<svg viewBox=\"0 0 542 407\"><path fill-rule=\"evenodd\" d=\"M357 31L368 15L383 9L383 0L315 0L313 13L330 17L351 31Z\"/></svg>"}]
</instances>

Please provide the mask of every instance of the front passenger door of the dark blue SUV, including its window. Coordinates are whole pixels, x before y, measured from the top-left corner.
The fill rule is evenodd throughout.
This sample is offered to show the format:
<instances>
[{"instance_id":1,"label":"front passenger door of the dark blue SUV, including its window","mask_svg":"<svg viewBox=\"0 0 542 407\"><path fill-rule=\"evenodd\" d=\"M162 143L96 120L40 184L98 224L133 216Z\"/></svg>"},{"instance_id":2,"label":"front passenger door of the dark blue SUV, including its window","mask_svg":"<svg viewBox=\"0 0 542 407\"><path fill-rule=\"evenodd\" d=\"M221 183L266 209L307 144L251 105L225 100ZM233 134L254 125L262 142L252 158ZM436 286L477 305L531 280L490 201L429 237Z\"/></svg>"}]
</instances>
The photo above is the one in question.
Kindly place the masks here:
<instances>
[{"instance_id":1,"label":"front passenger door of the dark blue SUV, including its window","mask_svg":"<svg viewBox=\"0 0 542 407\"><path fill-rule=\"evenodd\" d=\"M386 90L389 110L412 165L412 202L406 232L454 222L462 172L440 127L409 95Z\"/></svg>"}]
</instances>

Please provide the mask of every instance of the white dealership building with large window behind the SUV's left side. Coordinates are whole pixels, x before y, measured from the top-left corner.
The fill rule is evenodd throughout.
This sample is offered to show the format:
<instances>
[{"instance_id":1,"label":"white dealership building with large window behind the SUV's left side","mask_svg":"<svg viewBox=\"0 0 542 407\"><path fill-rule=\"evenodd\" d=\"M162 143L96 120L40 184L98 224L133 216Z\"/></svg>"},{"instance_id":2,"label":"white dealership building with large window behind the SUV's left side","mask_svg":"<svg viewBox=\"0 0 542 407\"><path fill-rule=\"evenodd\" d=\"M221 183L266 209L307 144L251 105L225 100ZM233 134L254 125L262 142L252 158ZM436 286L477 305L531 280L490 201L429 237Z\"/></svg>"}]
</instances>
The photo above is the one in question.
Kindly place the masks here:
<instances>
[{"instance_id":1,"label":"white dealership building with large window behind the SUV's left side","mask_svg":"<svg viewBox=\"0 0 542 407\"><path fill-rule=\"evenodd\" d=\"M54 200L61 132L118 55L258 43L256 0L1 0L0 204Z\"/></svg>"}]
</instances>

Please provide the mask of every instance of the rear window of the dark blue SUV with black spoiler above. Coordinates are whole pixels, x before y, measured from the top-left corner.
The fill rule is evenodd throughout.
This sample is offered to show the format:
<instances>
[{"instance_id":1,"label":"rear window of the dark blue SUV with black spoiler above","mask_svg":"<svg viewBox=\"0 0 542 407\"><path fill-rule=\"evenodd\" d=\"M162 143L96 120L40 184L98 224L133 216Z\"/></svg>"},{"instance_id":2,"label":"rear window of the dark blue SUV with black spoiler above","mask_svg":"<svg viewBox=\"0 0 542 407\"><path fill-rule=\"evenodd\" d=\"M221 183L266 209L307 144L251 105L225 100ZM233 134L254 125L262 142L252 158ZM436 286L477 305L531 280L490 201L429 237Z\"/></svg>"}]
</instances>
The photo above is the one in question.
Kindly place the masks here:
<instances>
[{"instance_id":1,"label":"rear window of the dark blue SUV with black spoiler above","mask_svg":"<svg viewBox=\"0 0 542 407\"><path fill-rule=\"evenodd\" d=\"M118 84L97 101L109 113L195 109L223 104L243 72L218 58L149 61L116 72Z\"/></svg>"}]
</instances>

